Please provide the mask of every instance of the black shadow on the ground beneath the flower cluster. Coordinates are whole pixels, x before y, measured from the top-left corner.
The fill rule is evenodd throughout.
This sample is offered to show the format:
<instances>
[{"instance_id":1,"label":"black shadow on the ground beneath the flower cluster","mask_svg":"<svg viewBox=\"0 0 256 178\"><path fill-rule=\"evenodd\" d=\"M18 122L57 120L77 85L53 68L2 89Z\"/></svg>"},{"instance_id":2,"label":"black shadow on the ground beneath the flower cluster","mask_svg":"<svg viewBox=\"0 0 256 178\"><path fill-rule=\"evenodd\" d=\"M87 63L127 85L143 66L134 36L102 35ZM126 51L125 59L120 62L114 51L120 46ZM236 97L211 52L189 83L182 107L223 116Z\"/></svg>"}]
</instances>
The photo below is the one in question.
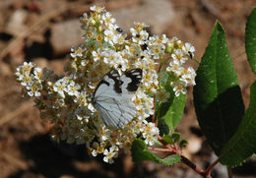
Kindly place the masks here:
<instances>
[{"instance_id":1,"label":"black shadow on the ground beneath the flower cluster","mask_svg":"<svg viewBox=\"0 0 256 178\"><path fill-rule=\"evenodd\" d=\"M29 170L20 170L10 178L23 177L26 172L42 175L45 178L61 177L96 177L114 178L130 177L124 173L121 157L114 164L102 161L102 156L89 156L85 146L54 143L48 135L33 137L29 142L19 144L27 162ZM79 162L79 163L76 163ZM80 164L80 166L77 166ZM79 167L79 168L78 168Z\"/></svg>"}]
</instances>

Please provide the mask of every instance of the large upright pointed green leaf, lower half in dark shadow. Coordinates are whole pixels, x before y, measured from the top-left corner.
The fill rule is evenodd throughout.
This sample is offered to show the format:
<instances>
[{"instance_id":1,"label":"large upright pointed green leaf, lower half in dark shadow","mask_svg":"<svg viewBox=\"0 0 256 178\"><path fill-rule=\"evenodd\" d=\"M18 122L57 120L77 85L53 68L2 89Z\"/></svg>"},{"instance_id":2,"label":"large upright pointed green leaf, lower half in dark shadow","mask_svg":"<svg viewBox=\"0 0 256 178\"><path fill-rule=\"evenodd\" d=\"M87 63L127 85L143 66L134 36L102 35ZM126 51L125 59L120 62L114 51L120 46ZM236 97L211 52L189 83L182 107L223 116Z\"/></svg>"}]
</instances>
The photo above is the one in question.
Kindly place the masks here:
<instances>
[{"instance_id":1,"label":"large upright pointed green leaf, lower half in dark shadow","mask_svg":"<svg viewBox=\"0 0 256 178\"><path fill-rule=\"evenodd\" d=\"M199 125L219 155L244 115L239 84L219 22L197 70L193 95Z\"/></svg>"}]
</instances>

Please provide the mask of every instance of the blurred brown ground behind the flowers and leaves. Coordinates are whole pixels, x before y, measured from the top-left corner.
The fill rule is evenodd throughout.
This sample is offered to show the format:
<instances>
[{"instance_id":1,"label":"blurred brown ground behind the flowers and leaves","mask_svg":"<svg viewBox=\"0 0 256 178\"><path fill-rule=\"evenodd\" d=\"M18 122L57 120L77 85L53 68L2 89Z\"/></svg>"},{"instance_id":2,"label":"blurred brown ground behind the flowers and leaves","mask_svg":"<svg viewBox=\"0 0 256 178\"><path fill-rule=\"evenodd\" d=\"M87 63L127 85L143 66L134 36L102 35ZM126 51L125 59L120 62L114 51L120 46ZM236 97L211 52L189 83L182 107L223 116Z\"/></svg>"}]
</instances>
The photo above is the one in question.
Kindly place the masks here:
<instances>
[{"instance_id":1,"label":"blurred brown ground behind the flowers and leaves","mask_svg":"<svg viewBox=\"0 0 256 178\"><path fill-rule=\"evenodd\" d=\"M83 42L79 17L94 4L105 6L124 31L134 21L141 21L151 25L152 34L165 33L191 42L198 59L219 19L247 108L249 87L255 78L246 61L244 29L255 0L0 0L0 178L200 177L180 163L133 163L130 155L121 154L114 164L106 164L101 156L89 156L85 146L56 144L48 135L49 124L39 119L32 100L21 97L14 76L17 66L33 61L63 74L70 48ZM191 65L197 67L193 62ZM205 168L216 156L198 126L192 88L188 91L177 131L190 143L185 154ZM256 177L256 159L249 158L233 169L233 174L235 178ZM227 177L224 166L218 165L213 177Z\"/></svg>"}]
</instances>

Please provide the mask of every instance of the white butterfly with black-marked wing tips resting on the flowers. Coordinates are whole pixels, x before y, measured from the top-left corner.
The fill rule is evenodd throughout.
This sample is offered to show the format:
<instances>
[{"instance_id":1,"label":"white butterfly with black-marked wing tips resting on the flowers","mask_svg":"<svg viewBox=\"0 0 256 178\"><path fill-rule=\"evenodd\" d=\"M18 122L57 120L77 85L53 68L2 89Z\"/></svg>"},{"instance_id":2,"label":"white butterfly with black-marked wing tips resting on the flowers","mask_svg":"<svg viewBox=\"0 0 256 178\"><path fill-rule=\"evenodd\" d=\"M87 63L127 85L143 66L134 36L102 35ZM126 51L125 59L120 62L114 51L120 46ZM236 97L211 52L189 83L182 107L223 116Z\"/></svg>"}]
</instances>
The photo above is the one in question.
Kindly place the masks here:
<instances>
[{"instance_id":1,"label":"white butterfly with black-marked wing tips resting on the flowers","mask_svg":"<svg viewBox=\"0 0 256 178\"><path fill-rule=\"evenodd\" d=\"M98 83L91 99L106 126L119 129L136 116L132 97L141 84L142 74L140 68L126 71L122 76L111 70Z\"/></svg>"}]
</instances>

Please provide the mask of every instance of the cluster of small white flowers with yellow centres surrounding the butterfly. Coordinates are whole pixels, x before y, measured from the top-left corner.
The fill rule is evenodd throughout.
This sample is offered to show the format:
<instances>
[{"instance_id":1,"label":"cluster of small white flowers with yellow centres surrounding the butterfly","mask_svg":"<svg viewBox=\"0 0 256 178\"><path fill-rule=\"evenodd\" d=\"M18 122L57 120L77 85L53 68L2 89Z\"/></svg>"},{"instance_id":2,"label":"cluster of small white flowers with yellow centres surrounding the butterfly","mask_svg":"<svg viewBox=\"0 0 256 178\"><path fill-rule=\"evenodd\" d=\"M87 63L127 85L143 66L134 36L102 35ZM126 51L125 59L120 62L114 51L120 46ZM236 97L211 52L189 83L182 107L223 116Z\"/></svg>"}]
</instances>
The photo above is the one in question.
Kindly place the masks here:
<instances>
[{"instance_id":1,"label":"cluster of small white flowers with yellow centres surrounding the butterfly","mask_svg":"<svg viewBox=\"0 0 256 178\"><path fill-rule=\"evenodd\" d=\"M176 95L185 92L187 86L194 85L195 72L193 68L183 68L182 64L195 49L175 37L150 36L144 23L135 23L128 38L104 8L94 6L91 11L81 18L85 43L71 49L65 77L35 67L32 62L18 67L16 75L28 94L35 96L41 118L54 124L53 139L86 144L92 155L104 154L103 160L112 163L119 149L128 151L137 137L149 146L156 143L159 129L146 120L155 114L152 95L157 94L157 101L162 102L169 97L160 88L156 69L166 61L165 54L171 56L166 72L176 78L170 86ZM143 70L142 84L133 97L137 115L124 128L106 127L90 95L109 70L116 69L121 75L133 68Z\"/></svg>"}]
</instances>

